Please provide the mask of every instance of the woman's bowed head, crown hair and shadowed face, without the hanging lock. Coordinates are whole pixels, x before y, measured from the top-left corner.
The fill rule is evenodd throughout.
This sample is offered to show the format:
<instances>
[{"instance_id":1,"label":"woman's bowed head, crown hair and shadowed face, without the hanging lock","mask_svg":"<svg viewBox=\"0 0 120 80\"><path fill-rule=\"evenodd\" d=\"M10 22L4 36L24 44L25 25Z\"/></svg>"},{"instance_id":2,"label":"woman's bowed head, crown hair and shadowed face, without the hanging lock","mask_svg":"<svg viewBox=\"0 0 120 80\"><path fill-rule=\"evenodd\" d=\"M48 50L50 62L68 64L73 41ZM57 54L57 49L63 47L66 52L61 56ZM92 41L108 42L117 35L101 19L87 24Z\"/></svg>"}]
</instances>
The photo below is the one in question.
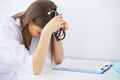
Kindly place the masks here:
<instances>
[{"instance_id":1,"label":"woman's bowed head, crown hair and shadowed face, without the hanging lock","mask_svg":"<svg viewBox=\"0 0 120 80\"><path fill-rule=\"evenodd\" d=\"M23 22L28 25L31 36L39 37L41 29L51 19L48 12L53 9L56 9L56 5L50 0L37 0L28 7Z\"/></svg>"}]
</instances>

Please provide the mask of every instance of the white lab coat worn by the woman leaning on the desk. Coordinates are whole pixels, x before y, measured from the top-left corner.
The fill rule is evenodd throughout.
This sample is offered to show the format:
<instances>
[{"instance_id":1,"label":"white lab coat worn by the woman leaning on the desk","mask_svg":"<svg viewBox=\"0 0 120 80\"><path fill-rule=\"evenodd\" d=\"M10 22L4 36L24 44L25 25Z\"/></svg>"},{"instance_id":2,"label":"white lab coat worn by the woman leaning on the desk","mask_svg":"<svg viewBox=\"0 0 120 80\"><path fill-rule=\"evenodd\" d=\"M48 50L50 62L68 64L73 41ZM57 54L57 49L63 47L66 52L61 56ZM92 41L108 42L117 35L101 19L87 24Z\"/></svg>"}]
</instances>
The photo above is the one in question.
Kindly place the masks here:
<instances>
[{"instance_id":1,"label":"white lab coat worn by the woman leaning on the desk","mask_svg":"<svg viewBox=\"0 0 120 80\"><path fill-rule=\"evenodd\" d=\"M0 80L33 73L32 54L39 39L32 38L28 51L23 44L20 25L19 18L14 20L11 17L0 24Z\"/></svg>"}]
</instances>

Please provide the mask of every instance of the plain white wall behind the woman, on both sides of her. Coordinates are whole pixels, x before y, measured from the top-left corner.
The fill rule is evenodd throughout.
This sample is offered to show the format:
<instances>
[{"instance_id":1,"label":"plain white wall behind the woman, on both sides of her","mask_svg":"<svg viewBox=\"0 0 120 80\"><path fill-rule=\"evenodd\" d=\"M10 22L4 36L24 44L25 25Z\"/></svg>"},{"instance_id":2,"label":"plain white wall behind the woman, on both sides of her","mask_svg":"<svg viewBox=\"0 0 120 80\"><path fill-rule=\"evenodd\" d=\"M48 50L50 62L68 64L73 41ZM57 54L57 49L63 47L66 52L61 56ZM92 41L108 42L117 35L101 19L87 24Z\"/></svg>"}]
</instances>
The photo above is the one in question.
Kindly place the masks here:
<instances>
[{"instance_id":1,"label":"plain white wall behind the woman, on both sides of her","mask_svg":"<svg viewBox=\"0 0 120 80\"><path fill-rule=\"evenodd\" d=\"M33 1L2 0L0 18L24 10ZM63 41L66 57L120 61L120 0L53 1L63 7L69 24Z\"/></svg>"}]
</instances>

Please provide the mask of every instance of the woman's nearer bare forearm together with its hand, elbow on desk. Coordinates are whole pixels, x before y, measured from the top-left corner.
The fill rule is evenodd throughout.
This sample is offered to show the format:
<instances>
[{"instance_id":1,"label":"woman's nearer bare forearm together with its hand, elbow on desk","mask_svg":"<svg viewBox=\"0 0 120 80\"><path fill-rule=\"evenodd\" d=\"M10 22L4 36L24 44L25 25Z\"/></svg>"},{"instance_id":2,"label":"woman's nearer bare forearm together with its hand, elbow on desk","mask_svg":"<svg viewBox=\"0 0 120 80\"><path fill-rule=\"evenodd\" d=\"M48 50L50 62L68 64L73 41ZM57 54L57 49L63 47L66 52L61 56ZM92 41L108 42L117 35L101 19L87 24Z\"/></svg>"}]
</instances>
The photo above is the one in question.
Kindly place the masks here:
<instances>
[{"instance_id":1,"label":"woman's nearer bare forearm together with its hand, elbow on desk","mask_svg":"<svg viewBox=\"0 0 120 80\"><path fill-rule=\"evenodd\" d=\"M48 46L50 43L51 35L53 32L64 27L63 23L64 21L62 19L62 15L58 15L54 17L52 20L50 20L42 30L40 41L33 54L34 74L40 74L42 72L48 52Z\"/></svg>"}]
</instances>

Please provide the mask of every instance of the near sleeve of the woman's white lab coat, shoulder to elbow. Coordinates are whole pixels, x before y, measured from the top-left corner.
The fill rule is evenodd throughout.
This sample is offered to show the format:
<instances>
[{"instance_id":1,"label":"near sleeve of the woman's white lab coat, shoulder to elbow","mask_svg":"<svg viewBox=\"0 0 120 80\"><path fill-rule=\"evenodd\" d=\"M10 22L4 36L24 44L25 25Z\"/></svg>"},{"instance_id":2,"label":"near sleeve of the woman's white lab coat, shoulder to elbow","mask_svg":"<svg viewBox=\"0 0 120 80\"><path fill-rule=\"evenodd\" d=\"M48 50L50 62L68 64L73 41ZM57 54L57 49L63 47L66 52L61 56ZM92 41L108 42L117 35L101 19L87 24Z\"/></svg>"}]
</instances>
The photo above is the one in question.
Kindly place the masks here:
<instances>
[{"instance_id":1,"label":"near sleeve of the woman's white lab coat, shoulder to elbow","mask_svg":"<svg viewBox=\"0 0 120 80\"><path fill-rule=\"evenodd\" d=\"M33 74L32 55L30 55L30 52L20 41L21 35L14 27L4 26L4 28L0 29L0 32L2 32L2 34L0 34L0 44L3 45L4 49L7 50L7 53L6 51L2 52L4 55L6 54L6 56L9 53L13 60L10 63L6 62L4 64L13 64L14 70L29 72ZM8 61L11 61L11 59Z\"/></svg>"}]
</instances>

